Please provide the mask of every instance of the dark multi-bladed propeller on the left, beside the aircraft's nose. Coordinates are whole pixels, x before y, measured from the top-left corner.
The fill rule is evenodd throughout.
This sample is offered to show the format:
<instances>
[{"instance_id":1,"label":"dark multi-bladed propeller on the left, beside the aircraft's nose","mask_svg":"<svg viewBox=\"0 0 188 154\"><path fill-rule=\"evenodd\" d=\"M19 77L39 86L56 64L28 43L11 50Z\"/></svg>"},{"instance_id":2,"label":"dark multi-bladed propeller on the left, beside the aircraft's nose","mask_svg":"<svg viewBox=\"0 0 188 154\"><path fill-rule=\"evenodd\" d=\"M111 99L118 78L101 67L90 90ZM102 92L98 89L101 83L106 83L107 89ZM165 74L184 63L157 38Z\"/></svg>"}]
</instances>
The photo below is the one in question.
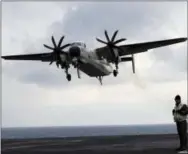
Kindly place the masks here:
<instances>
[{"instance_id":1,"label":"dark multi-bladed propeller on the left, beside the aircraft's nose","mask_svg":"<svg viewBox=\"0 0 188 154\"><path fill-rule=\"evenodd\" d=\"M54 61L56 61L56 65L57 65L57 67L59 67L59 64L61 64L60 54L64 54L64 55L67 56L67 53L64 52L63 49L65 49L66 47L70 46L70 44L65 44L65 45L61 46L64 38L65 38L65 36L62 36L61 39L59 40L58 45L57 45L56 42L55 42L54 37L52 36L51 40L52 40L52 43L53 43L54 47L50 47L50 46L44 44L44 47L46 47L46 48L48 48L50 50L53 50L53 52L51 53L53 58L52 58L52 60L51 60L49 65L51 65Z\"/></svg>"}]
</instances>

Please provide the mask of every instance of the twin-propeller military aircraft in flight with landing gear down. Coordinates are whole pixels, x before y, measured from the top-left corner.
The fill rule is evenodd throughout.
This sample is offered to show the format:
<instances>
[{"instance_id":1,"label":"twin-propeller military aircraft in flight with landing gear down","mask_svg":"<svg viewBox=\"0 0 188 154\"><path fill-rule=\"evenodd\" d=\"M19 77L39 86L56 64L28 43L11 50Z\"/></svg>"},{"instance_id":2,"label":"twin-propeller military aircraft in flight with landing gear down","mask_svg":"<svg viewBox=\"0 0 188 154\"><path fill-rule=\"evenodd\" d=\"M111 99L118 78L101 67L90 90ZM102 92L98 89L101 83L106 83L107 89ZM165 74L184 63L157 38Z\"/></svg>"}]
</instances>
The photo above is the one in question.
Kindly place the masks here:
<instances>
[{"instance_id":1,"label":"twin-propeller military aircraft in flight with landing gear down","mask_svg":"<svg viewBox=\"0 0 188 154\"><path fill-rule=\"evenodd\" d=\"M54 37L51 37L54 47L50 47L44 44L44 47L52 50L50 53L38 53L38 54L24 54L24 55L8 55L1 56L6 60L33 60L50 62L56 62L59 66L65 70L66 78L71 81L71 74L69 74L70 66L77 69L78 78L80 78L80 70L90 77L96 77L102 85L102 78L113 73L114 77L118 75L118 65L121 62L132 62L133 73L135 73L134 54L146 52L153 48L163 47L175 43L184 42L187 38L174 38L152 42L143 42L135 44L117 45L120 42L125 41L125 38L115 40L118 30L113 33L111 39L107 31L104 31L107 41L103 41L99 38L96 40L105 44L103 47L90 50L83 42L73 42L61 46L64 37L62 36L58 44L55 42ZM65 51L64 49L68 49ZM131 55L127 57L128 55ZM112 67L112 64L115 68Z\"/></svg>"}]
</instances>

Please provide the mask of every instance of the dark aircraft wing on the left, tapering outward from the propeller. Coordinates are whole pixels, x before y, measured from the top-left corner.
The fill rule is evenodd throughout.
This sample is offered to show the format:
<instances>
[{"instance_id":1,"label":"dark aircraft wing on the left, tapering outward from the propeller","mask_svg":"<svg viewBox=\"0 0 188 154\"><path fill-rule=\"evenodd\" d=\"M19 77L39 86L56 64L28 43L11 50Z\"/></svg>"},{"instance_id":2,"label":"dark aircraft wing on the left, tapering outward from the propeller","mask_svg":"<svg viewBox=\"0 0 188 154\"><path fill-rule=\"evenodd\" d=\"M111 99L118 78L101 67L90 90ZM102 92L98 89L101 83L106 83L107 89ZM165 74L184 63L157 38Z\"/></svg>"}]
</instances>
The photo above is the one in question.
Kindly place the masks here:
<instances>
[{"instance_id":1,"label":"dark aircraft wing on the left, tapering outward from the propeller","mask_svg":"<svg viewBox=\"0 0 188 154\"><path fill-rule=\"evenodd\" d=\"M23 55L9 55L1 56L1 58L6 60L32 60L32 61L46 61L52 60L51 53L38 53L38 54L23 54Z\"/></svg>"}]
</instances>

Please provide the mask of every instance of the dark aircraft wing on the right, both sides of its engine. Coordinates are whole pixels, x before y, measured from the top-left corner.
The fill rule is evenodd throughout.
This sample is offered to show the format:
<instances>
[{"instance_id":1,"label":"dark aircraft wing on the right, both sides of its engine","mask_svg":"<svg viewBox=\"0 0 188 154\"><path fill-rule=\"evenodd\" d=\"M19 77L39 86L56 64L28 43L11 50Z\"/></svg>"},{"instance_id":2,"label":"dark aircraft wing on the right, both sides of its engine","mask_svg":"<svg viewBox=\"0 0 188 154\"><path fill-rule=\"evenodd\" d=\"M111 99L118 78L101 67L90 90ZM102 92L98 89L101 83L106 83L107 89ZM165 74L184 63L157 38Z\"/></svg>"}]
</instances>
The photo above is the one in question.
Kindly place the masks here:
<instances>
[{"instance_id":1,"label":"dark aircraft wing on the right, both sides of its engine","mask_svg":"<svg viewBox=\"0 0 188 154\"><path fill-rule=\"evenodd\" d=\"M126 56L141 52L146 52L150 49L158 48L158 47L164 47L167 45L180 43L186 41L187 38L174 38L174 39L168 39L168 40L159 40L159 41L152 41L152 42L143 42L143 43L135 43L135 44L126 44L126 45L120 45L119 47L122 49L118 51L119 56ZM97 48L96 54L99 56L99 58L106 58L109 62L111 61L111 56L109 51L109 48L107 46Z\"/></svg>"}]
</instances>

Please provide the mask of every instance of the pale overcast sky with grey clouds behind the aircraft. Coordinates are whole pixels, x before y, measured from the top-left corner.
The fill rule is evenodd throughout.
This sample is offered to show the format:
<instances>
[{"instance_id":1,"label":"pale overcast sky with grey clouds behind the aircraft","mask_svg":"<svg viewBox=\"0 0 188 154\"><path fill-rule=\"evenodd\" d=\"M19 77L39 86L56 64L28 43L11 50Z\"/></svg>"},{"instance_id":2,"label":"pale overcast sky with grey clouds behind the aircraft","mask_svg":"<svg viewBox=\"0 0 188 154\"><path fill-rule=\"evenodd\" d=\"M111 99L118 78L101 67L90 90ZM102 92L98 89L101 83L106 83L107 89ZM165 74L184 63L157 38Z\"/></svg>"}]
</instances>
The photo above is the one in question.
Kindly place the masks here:
<instances>
[{"instance_id":1,"label":"pale overcast sky with grey clouds behind the aircraft","mask_svg":"<svg viewBox=\"0 0 188 154\"><path fill-rule=\"evenodd\" d=\"M186 2L3 2L2 55L50 52L65 43L83 41L94 49L104 29L119 29L124 43L187 37ZM120 65L120 74L96 78L44 62L2 60L3 127L127 125L173 123L174 96L187 103L187 42L135 55Z\"/></svg>"}]
</instances>

